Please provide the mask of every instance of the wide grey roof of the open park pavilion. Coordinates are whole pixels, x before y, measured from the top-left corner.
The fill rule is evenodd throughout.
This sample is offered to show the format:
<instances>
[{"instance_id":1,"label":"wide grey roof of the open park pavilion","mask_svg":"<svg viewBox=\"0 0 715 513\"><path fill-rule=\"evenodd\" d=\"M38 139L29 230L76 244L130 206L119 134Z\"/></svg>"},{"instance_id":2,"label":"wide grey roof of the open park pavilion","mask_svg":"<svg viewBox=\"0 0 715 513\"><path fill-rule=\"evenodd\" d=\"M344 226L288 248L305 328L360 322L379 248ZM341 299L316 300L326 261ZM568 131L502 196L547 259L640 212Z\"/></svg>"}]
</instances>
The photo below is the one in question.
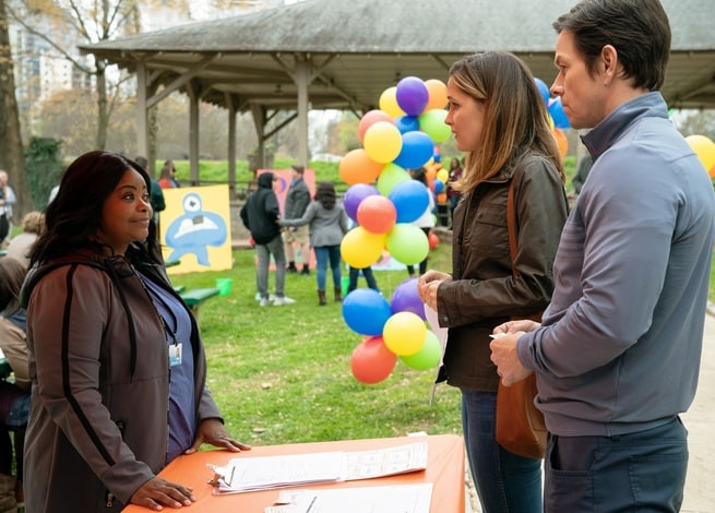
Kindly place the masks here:
<instances>
[{"instance_id":1,"label":"wide grey roof of the open park pavilion","mask_svg":"<svg viewBox=\"0 0 715 513\"><path fill-rule=\"evenodd\" d=\"M143 62L155 85L190 77L202 100L230 102L239 110L295 109L295 72L305 61L312 108L365 111L401 77L445 80L452 62L476 51L512 51L550 83L556 75L551 23L574 3L306 0L80 48L129 71ZM675 108L713 108L715 3L663 3L674 33L663 93Z\"/></svg>"}]
</instances>

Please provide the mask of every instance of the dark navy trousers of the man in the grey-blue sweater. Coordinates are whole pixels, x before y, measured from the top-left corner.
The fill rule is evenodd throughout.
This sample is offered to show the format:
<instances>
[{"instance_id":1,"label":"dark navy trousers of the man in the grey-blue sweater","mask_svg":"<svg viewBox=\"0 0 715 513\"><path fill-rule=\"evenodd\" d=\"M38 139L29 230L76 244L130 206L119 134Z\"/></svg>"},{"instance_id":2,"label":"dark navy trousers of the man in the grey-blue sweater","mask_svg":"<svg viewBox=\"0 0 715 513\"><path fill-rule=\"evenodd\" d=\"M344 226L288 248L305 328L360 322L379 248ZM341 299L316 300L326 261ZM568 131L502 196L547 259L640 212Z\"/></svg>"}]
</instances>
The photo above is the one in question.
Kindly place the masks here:
<instances>
[{"instance_id":1,"label":"dark navy trousers of the man in the grey-blue sweater","mask_svg":"<svg viewBox=\"0 0 715 513\"><path fill-rule=\"evenodd\" d=\"M688 469L688 431L679 418L615 437L549 436L547 513L677 512Z\"/></svg>"}]
</instances>

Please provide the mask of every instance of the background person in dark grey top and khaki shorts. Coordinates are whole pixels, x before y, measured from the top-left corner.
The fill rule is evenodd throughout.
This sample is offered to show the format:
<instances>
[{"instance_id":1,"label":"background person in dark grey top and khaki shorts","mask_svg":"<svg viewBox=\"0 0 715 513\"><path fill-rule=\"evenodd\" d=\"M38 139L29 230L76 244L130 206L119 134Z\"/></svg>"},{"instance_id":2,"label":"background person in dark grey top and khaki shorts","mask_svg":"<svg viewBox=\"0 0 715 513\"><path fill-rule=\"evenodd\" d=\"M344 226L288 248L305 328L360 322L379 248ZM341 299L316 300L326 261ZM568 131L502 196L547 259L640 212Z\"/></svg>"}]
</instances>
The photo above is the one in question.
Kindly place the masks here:
<instances>
[{"instance_id":1,"label":"background person in dark grey top and khaki shorts","mask_svg":"<svg viewBox=\"0 0 715 513\"><path fill-rule=\"evenodd\" d=\"M310 204L310 190L303 180L306 168L299 164L290 166L290 187L286 193L286 203L283 217L286 219L298 219L303 216ZM288 259L288 272L297 273L296 250L294 244L300 249L302 271L300 274L310 274L310 243L307 226L294 226L283 231L286 258Z\"/></svg>"}]
</instances>

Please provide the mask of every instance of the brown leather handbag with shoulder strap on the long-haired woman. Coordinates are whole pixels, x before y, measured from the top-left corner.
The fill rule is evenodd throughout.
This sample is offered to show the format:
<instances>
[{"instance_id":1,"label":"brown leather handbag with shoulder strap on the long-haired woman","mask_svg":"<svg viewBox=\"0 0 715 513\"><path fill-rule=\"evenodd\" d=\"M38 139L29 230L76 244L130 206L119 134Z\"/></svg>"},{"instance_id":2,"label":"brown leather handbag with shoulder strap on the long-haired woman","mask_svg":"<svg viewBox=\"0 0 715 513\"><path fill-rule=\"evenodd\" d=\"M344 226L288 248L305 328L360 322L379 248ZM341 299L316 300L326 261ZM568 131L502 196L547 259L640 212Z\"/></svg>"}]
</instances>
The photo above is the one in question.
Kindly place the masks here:
<instances>
[{"instance_id":1,"label":"brown leather handbag with shoulder strap on the long-haired woman","mask_svg":"<svg viewBox=\"0 0 715 513\"><path fill-rule=\"evenodd\" d=\"M516 212L514 210L514 179L509 184L507 200L507 229L512 273L519 276L514 266L516 258ZM541 314L529 319L540 321ZM499 379L497 390L497 443L510 453L524 457L543 458L546 452L546 422L544 414L536 408L536 374L505 386Z\"/></svg>"}]
</instances>

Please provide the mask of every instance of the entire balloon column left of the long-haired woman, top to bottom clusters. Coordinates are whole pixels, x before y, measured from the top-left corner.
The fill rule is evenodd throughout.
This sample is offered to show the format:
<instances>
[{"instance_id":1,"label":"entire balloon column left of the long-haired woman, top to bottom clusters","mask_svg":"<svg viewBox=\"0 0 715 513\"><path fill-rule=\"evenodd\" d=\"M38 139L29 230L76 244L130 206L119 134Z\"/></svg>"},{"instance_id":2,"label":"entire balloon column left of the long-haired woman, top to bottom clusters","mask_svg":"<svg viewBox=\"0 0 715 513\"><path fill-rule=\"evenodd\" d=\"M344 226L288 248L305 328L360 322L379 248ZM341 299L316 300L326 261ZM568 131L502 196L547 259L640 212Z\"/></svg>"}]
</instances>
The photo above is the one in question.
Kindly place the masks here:
<instances>
[{"instance_id":1,"label":"entire balloon column left of the long-haired woman, top to bottom clusters","mask_svg":"<svg viewBox=\"0 0 715 513\"><path fill-rule=\"evenodd\" d=\"M432 166L439 158L436 144L451 135L444 123L446 85L406 76L386 88L379 104L358 123L362 147L339 164L341 178L349 186L343 204L357 224L343 238L341 254L357 269L376 263L385 249L397 262L421 262L436 237L430 240L412 222L429 207L429 194L443 193L446 182ZM408 172L419 167L428 169L429 188ZM397 359L418 370L440 362L441 346L425 323L417 278L400 284L390 302L377 290L351 291L343 300L343 318L364 337L350 359L353 374L364 383L386 379Z\"/></svg>"}]
</instances>

